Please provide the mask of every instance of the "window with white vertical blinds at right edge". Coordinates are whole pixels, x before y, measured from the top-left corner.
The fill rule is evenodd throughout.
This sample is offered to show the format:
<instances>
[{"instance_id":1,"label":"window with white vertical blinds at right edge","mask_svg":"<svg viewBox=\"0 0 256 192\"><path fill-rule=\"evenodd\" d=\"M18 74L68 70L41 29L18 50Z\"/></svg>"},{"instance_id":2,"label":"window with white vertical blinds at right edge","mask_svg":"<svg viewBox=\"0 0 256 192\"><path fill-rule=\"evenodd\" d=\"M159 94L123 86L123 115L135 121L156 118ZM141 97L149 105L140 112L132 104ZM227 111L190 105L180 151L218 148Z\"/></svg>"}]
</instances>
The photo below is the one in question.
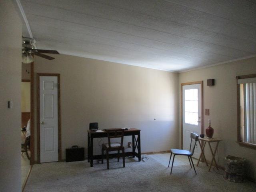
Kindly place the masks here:
<instances>
[{"instance_id":1,"label":"window with white vertical blinds at right edge","mask_svg":"<svg viewBox=\"0 0 256 192\"><path fill-rule=\"evenodd\" d=\"M240 133L238 141L256 146L256 74L237 78L238 134Z\"/></svg>"}]
</instances>

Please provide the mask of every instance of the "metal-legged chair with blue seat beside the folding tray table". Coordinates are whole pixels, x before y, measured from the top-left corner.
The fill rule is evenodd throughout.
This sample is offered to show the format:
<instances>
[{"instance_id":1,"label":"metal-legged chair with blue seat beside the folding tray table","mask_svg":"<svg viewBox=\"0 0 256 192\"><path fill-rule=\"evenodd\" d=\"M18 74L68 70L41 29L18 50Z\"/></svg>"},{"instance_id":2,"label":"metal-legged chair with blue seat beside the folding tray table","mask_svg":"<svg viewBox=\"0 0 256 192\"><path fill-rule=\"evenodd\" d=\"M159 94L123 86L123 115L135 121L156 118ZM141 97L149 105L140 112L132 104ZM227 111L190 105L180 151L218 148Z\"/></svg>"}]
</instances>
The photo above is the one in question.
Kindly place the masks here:
<instances>
[{"instance_id":1,"label":"metal-legged chair with blue seat beside the folding tray table","mask_svg":"<svg viewBox=\"0 0 256 192\"><path fill-rule=\"evenodd\" d=\"M186 155L186 156L188 156L190 167L192 168L192 166L191 166L191 162L192 162L193 168L194 168L195 173L196 173L196 169L194 167L194 163L193 163L193 160L192 160L191 156L194 154L194 150L195 150L195 147L196 147L196 142L198 141L198 134L190 133L190 138L191 138L191 141L190 141L189 151L188 150L181 150L181 149L171 149L171 156L170 156L168 167L170 166L170 161L171 161L171 158L172 158L172 154L174 154L173 159L172 159L172 166L173 166L173 162L174 162L174 157L176 155ZM191 160L191 162L190 162L190 160ZM172 174L172 168L171 168L171 173L170 174Z\"/></svg>"}]
</instances>

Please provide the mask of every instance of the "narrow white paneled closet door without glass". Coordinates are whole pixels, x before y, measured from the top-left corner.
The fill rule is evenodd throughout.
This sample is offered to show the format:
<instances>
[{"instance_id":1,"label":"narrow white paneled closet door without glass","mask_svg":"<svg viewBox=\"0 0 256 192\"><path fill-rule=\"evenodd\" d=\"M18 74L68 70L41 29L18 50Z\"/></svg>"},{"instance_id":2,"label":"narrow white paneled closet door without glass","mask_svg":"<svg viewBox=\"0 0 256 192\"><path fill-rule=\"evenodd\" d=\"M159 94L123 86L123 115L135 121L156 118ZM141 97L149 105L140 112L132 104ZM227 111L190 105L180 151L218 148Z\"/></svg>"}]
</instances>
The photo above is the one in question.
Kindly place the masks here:
<instances>
[{"instance_id":1,"label":"narrow white paneled closet door without glass","mask_svg":"<svg viewBox=\"0 0 256 192\"><path fill-rule=\"evenodd\" d=\"M40 76L40 162L58 161L58 77Z\"/></svg>"}]
</instances>

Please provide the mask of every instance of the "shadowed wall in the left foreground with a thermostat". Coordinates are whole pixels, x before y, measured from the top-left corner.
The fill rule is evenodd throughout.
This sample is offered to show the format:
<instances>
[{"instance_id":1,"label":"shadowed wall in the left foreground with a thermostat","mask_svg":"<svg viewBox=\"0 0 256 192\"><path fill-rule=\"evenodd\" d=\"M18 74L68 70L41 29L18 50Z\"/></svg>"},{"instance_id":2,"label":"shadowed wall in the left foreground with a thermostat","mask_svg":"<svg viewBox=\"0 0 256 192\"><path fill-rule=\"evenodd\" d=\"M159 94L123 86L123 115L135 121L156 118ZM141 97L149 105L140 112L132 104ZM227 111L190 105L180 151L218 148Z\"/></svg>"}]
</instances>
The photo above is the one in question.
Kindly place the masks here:
<instances>
[{"instance_id":1,"label":"shadowed wall in the left foreground with a thermostat","mask_svg":"<svg viewBox=\"0 0 256 192\"><path fill-rule=\"evenodd\" d=\"M22 24L10 0L0 1L0 191L21 191L20 81ZM7 108L11 100L13 107Z\"/></svg>"}]
</instances>

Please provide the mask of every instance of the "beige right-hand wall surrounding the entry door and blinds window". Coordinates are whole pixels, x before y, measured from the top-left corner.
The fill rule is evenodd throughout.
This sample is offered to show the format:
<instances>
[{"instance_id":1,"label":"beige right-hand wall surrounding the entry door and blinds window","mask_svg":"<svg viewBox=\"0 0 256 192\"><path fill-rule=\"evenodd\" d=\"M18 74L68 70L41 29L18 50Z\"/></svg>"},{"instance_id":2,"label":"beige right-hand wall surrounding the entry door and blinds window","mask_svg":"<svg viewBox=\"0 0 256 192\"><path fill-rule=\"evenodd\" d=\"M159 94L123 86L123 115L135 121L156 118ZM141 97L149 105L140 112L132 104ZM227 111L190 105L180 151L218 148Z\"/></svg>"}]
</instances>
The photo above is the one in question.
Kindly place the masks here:
<instances>
[{"instance_id":1,"label":"beige right-hand wall surrounding the entry door and blinds window","mask_svg":"<svg viewBox=\"0 0 256 192\"><path fill-rule=\"evenodd\" d=\"M214 137L223 139L223 141L220 142L217 156L220 165L224 166L224 157L227 155L244 157L248 160L250 167L248 174L254 178L256 178L256 150L241 147L236 143L236 76L255 73L256 58L254 57L179 74L179 89L180 84L184 82L204 81L204 109L210 109L210 116L204 115L204 133L205 128L208 126L208 119L211 119L212 127L214 128ZM207 86L207 79L215 79L215 86ZM179 135L180 134L179 128ZM206 151L208 150L209 148L206 148ZM209 157L208 155L208 158Z\"/></svg>"}]
</instances>

